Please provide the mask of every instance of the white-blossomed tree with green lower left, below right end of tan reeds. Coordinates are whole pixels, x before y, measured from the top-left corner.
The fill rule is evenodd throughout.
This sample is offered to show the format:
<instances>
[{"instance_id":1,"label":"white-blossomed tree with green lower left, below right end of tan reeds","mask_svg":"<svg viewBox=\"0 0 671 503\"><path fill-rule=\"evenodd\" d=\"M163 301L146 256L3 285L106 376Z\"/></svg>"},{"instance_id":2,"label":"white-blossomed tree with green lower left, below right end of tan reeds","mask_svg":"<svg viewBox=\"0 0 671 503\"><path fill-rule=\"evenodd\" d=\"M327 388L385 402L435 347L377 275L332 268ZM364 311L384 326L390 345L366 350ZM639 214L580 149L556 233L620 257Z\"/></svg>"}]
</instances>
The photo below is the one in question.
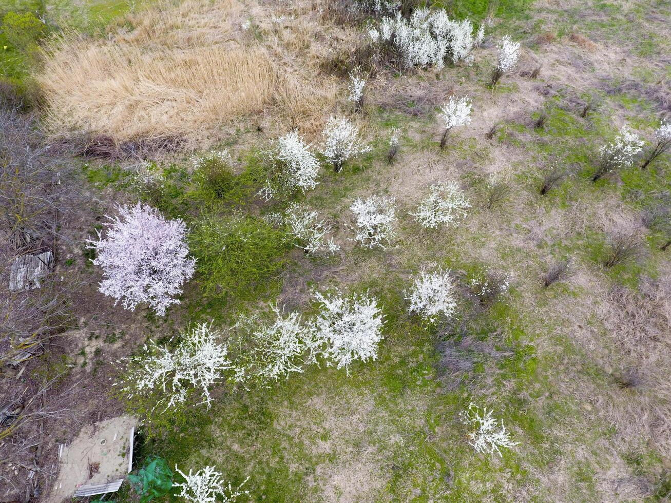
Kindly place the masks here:
<instances>
[{"instance_id":1,"label":"white-blossomed tree with green lower left, below right end of tan reeds","mask_svg":"<svg viewBox=\"0 0 671 503\"><path fill-rule=\"evenodd\" d=\"M317 185L319 161L298 131L280 136L266 156L269 176L259 191L266 201L297 190L305 192Z\"/></svg>"}]
</instances>

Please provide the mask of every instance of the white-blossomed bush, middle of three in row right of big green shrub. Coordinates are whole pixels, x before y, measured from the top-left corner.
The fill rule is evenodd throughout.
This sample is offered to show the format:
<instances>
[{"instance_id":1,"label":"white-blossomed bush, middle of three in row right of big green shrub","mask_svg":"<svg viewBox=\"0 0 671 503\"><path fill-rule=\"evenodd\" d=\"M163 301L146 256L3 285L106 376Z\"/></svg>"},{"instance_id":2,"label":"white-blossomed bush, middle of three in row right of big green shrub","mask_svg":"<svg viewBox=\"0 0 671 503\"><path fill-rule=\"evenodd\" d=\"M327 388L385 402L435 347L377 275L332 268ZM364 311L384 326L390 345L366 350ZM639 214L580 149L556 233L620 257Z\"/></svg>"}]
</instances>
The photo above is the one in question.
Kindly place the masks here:
<instances>
[{"instance_id":1,"label":"white-blossomed bush, middle of three in row right of big green shrub","mask_svg":"<svg viewBox=\"0 0 671 503\"><path fill-rule=\"evenodd\" d=\"M357 231L354 239L369 248L379 246L384 249L389 245L396 235L394 203L393 197L378 195L354 201L350 206L356 216Z\"/></svg>"}]
</instances>

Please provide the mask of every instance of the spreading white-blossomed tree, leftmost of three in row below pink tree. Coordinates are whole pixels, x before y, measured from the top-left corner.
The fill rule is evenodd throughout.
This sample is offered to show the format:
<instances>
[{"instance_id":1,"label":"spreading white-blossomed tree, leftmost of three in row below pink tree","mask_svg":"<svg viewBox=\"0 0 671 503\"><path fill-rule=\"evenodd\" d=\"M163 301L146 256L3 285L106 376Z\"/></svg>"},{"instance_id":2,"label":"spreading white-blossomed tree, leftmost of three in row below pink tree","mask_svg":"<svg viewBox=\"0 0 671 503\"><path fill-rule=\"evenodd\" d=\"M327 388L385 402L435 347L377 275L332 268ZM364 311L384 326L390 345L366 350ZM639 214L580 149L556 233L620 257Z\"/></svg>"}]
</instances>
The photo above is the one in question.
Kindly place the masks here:
<instances>
[{"instance_id":1,"label":"spreading white-blossomed tree, leftmost of three in row below pink tree","mask_svg":"<svg viewBox=\"0 0 671 503\"><path fill-rule=\"evenodd\" d=\"M236 367L228 358L227 346L218 343L221 334L211 325L197 325L181 337L174 351L151 342L144 347L143 355L122 360L129 372L121 391L128 398L158 391L166 395L160 402L166 402L168 409L183 404L196 388L210 406L210 386Z\"/></svg>"}]
</instances>

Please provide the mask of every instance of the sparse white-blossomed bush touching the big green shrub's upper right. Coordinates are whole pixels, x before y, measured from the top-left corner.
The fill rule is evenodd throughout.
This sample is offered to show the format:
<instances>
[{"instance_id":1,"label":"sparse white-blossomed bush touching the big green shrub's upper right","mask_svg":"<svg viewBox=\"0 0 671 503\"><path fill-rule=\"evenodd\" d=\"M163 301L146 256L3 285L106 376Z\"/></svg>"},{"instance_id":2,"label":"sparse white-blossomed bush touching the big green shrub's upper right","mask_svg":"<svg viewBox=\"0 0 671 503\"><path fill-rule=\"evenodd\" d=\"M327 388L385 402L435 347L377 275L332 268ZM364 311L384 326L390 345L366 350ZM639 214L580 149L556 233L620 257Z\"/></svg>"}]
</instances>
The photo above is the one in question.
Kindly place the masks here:
<instances>
[{"instance_id":1,"label":"sparse white-blossomed bush touching the big green shrub's upper right","mask_svg":"<svg viewBox=\"0 0 671 503\"><path fill-rule=\"evenodd\" d=\"M332 237L326 237L331 226L319 220L319 213L304 206L292 204L285 213L284 220L289 232L298 240L297 246L308 255L334 254L340 246L333 243Z\"/></svg>"}]
</instances>

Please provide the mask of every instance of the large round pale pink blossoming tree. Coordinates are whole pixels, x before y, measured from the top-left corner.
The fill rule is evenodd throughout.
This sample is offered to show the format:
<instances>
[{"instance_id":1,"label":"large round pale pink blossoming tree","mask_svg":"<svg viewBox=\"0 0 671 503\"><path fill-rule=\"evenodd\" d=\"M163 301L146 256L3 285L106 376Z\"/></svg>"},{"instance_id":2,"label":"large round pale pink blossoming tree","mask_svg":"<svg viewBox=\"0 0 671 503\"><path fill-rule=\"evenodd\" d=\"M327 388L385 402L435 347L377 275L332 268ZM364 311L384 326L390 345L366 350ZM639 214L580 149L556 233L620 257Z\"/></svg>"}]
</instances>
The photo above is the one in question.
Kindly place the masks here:
<instances>
[{"instance_id":1,"label":"large round pale pink blossoming tree","mask_svg":"<svg viewBox=\"0 0 671 503\"><path fill-rule=\"evenodd\" d=\"M103 268L100 292L121 300L125 309L134 311L147 302L158 315L165 315L168 306L179 303L173 297L194 272L185 223L166 220L141 203L119 207L119 216L107 218L107 237L98 232L97 241L87 240L96 252L93 264Z\"/></svg>"}]
</instances>

